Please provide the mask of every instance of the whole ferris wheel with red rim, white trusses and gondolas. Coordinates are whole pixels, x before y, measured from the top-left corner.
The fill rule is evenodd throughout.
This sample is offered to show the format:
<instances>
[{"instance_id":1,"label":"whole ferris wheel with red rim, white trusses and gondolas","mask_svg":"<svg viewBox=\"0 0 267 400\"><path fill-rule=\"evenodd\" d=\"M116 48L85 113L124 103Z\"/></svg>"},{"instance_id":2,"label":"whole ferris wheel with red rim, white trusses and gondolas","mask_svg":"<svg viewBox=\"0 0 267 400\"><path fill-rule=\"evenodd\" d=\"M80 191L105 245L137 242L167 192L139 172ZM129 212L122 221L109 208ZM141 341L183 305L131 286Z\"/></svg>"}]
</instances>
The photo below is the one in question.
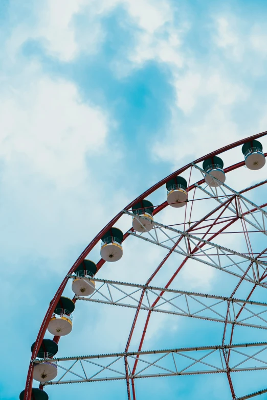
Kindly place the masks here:
<instances>
[{"instance_id":1,"label":"whole ferris wheel with red rim, white trusses and gondolas","mask_svg":"<svg viewBox=\"0 0 267 400\"><path fill-rule=\"evenodd\" d=\"M267 153L258 140L265 135L267 132L239 140L173 172L128 204L97 234L65 275L49 304L31 348L26 387L20 400L48 400L54 385L103 381L125 381L125 398L136 400L137 382L142 378L183 379L182 375L219 373L228 382L229 400L267 393L267 384L253 393L238 392L233 378L234 372L251 372L255 381L257 371L267 370L267 341L253 341L254 331L267 330L267 179L261 170ZM123 226L127 225L124 232L122 219ZM164 257L152 271L146 272L143 267L145 281L125 283L119 276L100 276L105 263L110 267L123 263L129 241L135 242L137 249L130 255L132 258L137 256L141 243L148 251L158 246ZM91 260L96 249L101 257L98 262ZM198 266L216 271L224 294L177 287L177 276L185 268L184 275ZM68 286L73 298L64 295ZM99 307L134 310L120 352L86 356L86 349L84 355L58 357L60 338L73 342L70 338L75 309L81 301L89 308L98 303ZM144 313L142 325L139 319ZM217 324L220 342L144 349L151 316L159 314L171 316L173 324L178 319L182 321L182 317L189 317L189 323L197 320ZM136 349L131 346L134 335L139 338ZM242 342L242 337L250 340Z\"/></svg>"}]
</instances>

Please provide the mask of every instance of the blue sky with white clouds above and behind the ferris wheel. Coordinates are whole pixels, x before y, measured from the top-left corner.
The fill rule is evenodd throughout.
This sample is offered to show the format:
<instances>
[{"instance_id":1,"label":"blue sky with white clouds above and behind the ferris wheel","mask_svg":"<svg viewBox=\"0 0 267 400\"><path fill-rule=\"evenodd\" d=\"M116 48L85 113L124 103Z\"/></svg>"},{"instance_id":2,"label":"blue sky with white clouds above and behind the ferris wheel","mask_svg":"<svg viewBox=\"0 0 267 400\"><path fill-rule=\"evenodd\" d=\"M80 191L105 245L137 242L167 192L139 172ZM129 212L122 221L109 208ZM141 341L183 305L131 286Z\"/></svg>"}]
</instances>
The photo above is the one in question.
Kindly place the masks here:
<instances>
[{"instance_id":1,"label":"blue sky with white clouds above and behind the ferris wheel","mask_svg":"<svg viewBox=\"0 0 267 400\"><path fill-rule=\"evenodd\" d=\"M17 399L23 390L30 347L49 301L95 234L174 169L267 129L266 15L267 4L259 0L1 1L1 398ZM240 160L231 154L228 164ZM161 250L146 254L147 275L135 273L128 255L128 270L106 267L101 276L146 279L164 256ZM129 245L129 254L134 251ZM99 248L91 258L98 261ZM216 291L215 275L193 288ZM60 342L60 354L124 349L133 314L115 310L110 316L92 306L85 326L82 306L76 337ZM108 348L101 329L115 319L119 332ZM168 323L173 330L166 333L162 325ZM147 347L149 340L164 348L194 345L196 330L198 345L221 337L221 326L173 324L155 323L157 340L151 333ZM84 348L84 337L94 345ZM141 399L148 393L155 399L162 393L220 399L220 391L229 397L226 381L217 376L139 385ZM92 386L48 393L50 400L126 398L125 383Z\"/></svg>"}]
</instances>

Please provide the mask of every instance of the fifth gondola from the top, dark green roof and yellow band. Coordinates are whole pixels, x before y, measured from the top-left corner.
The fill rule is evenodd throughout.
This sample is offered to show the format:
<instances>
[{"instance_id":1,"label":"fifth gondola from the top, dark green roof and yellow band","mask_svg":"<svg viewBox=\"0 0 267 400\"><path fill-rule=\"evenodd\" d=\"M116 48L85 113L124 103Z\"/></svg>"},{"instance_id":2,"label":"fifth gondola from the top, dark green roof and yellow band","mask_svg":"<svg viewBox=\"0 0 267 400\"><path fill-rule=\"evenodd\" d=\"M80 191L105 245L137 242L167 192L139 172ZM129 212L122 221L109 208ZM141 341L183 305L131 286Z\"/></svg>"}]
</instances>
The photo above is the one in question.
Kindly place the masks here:
<instances>
[{"instance_id":1,"label":"fifth gondola from the top, dark green roof and yellow band","mask_svg":"<svg viewBox=\"0 0 267 400\"><path fill-rule=\"evenodd\" d=\"M111 228L102 238L100 255L108 262L119 261L122 257L123 233L118 228Z\"/></svg>"}]
</instances>

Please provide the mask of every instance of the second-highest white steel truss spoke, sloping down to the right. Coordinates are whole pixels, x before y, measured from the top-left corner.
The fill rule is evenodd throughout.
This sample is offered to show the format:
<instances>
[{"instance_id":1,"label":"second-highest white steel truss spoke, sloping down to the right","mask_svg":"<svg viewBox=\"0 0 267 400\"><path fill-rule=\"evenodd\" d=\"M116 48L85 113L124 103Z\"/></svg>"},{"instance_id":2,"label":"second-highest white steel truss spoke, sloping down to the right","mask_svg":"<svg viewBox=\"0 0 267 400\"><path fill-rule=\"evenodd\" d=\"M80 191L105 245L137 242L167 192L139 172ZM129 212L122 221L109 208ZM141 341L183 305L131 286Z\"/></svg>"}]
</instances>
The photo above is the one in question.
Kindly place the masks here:
<instances>
[{"instance_id":1,"label":"second-highest white steel truss spoke, sloping down to the right","mask_svg":"<svg viewBox=\"0 0 267 400\"><path fill-rule=\"evenodd\" d=\"M130 213L130 211L124 210L124 213L135 217L135 214ZM139 221L142 221L142 219L150 221L148 218L140 215ZM267 262L260 259L257 260L257 258L250 255L197 237L188 231L182 231L157 221L153 221L153 224L154 228L151 231L144 232L148 233L149 237L145 237L144 233L139 234L131 230L129 230L128 233L133 237L164 247L168 250L172 248L177 240L182 239L175 249L173 249L174 253L179 253L191 260L207 264L239 278L243 277L248 267L251 266L246 272L244 279L255 285L267 287L267 276L265 279L261 279L261 276L266 272ZM156 230L158 231L157 233ZM196 248L197 251L190 252L189 245ZM208 246L208 248L206 248L206 246Z\"/></svg>"}]
</instances>

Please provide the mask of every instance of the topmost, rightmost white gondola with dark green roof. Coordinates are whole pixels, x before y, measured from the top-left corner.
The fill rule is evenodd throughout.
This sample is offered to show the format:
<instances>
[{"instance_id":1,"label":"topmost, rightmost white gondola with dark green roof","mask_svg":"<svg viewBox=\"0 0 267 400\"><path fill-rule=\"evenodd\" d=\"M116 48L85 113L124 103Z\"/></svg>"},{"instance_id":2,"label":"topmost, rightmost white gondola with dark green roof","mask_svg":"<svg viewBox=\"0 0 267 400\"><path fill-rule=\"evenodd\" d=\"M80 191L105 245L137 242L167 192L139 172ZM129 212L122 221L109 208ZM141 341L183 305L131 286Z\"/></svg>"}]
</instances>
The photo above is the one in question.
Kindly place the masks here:
<instances>
[{"instance_id":1,"label":"topmost, rightmost white gondola with dark green roof","mask_svg":"<svg viewBox=\"0 0 267 400\"><path fill-rule=\"evenodd\" d=\"M262 151L262 144L258 140L244 143L242 153L245 158L246 167L249 170L260 170L265 165L265 157Z\"/></svg>"}]
</instances>

